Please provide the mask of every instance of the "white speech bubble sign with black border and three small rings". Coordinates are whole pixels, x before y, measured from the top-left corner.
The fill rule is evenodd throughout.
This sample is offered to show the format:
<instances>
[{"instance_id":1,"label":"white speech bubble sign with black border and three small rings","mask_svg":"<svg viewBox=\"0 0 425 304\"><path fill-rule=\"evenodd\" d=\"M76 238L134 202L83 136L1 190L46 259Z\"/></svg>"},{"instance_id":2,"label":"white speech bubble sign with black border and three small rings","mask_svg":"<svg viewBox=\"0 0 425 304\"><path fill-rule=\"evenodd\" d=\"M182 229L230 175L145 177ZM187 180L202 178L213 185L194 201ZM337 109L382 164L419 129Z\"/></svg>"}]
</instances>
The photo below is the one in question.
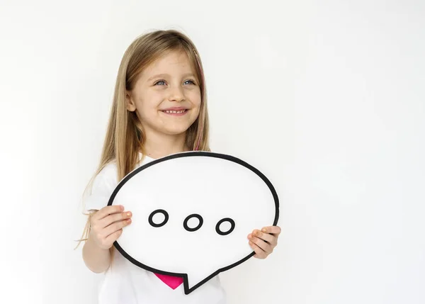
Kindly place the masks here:
<instances>
[{"instance_id":1,"label":"white speech bubble sign with black border and three small rings","mask_svg":"<svg viewBox=\"0 0 425 304\"><path fill-rule=\"evenodd\" d=\"M279 217L266 176L213 152L172 154L135 169L115 188L111 205L132 212L115 248L143 269L183 277L186 295L253 257L247 235Z\"/></svg>"}]
</instances>

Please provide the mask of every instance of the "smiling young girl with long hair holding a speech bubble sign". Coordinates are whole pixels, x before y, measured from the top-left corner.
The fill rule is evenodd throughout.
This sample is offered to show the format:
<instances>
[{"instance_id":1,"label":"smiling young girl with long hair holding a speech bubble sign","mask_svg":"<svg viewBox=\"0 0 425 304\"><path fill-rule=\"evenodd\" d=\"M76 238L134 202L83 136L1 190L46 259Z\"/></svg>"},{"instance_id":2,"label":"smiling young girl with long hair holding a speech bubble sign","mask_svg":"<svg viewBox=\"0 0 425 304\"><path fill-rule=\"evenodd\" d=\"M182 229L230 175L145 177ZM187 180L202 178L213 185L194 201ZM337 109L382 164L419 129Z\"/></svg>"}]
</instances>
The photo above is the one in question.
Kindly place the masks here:
<instances>
[{"instance_id":1,"label":"smiling young girl with long hair holding a speech bubble sign","mask_svg":"<svg viewBox=\"0 0 425 304\"><path fill-rule=\"evenodd\" d=\"M176 30L142 35L128 47L120 64L101 163L85 202L89 220L84 263L95 273L105 273L99 304L226 303L218 276L185 295L181 278L141 269L113 247L132 218L125 206L107 206L119 181L152 159L191 150L210 151L198 51ZM246 242L254 257L266 258L279 234L276 226L249 234ZM149 236L146 240L149 246Z\"/></svg>"}]
</instances>

